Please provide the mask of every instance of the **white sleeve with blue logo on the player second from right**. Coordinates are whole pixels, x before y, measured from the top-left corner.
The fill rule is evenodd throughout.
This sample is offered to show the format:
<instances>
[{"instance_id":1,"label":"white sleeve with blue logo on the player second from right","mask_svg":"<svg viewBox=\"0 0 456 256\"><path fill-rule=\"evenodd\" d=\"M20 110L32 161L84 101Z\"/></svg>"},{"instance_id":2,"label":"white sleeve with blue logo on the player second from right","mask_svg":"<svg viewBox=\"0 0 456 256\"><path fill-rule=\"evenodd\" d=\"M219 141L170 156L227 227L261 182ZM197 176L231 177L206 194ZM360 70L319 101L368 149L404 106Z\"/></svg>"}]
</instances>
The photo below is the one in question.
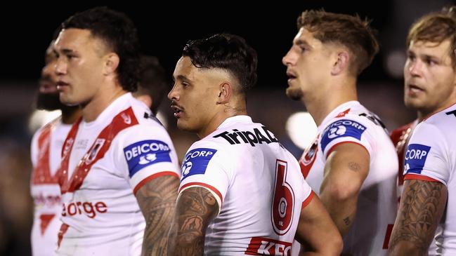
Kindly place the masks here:
<instances>
[{"instance_id":1,"label":"white sleeve with blue logo on the player second from right","mask_svg":"<svg viewBox=\"0 0 456 256\"><path fill-rule=\"evenodd\" d=\"M372 155L374 139L371 133L374 123L363 116L344 116L343 119L333 119L321 133L320 146L325 159L332 149L341 143L356 143L363 146ZM371 131L372 130L372 131Z\"/></svg>"}]
</instances>

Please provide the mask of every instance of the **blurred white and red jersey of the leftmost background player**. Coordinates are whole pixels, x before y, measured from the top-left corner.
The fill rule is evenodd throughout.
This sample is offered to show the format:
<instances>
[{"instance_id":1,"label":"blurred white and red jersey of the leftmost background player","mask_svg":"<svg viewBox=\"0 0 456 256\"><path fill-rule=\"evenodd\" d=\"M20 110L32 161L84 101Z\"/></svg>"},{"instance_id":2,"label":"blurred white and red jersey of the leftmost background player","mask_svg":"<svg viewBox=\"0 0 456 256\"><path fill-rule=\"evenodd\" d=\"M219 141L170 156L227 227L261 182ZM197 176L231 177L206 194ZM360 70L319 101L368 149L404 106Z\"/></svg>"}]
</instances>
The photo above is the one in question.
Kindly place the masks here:
<instances>
[{"instance_id":1,"label":"blurred white and red jersey of the leftmost background player","mask_svg":"<svg viewBox=\"0 0 456 256\"><path fill-rule=\"evenodd\" d=\"M62 224L62 202L56 173L60 166L63 141L70 128L71 125L62 123L59 117L33 135L30 191L34 201L31 235L34 256L56 255L57 235Z\"/></svg>"}]
</instances>

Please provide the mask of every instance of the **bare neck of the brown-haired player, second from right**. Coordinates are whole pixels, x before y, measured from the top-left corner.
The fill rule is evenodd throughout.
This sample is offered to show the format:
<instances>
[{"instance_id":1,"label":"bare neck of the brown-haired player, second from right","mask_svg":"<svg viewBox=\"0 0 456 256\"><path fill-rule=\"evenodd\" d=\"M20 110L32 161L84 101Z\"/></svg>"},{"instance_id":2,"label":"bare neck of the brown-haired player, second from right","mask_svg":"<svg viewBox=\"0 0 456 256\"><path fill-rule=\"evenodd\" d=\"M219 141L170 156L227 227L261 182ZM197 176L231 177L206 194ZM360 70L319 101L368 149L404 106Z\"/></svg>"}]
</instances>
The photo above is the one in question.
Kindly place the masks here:
<instances>
[{"instance_id":1,"label":"bare neck of the brown-haired player, second from right","mask_svg":"<svg viewBox=\"0 0 456 256\"><path fill-rule=\"evenodd\" d=\"M317 126L320 126L325 117L339 105L351 100L358 100L356 81L339 85L332 83L331 86L326 88L328 90L319 90L321 91L320 95L308 93L309 95L304 95L301 99ZM328 91L330 93L327 93Z\"/></svg>"}]
</instances>

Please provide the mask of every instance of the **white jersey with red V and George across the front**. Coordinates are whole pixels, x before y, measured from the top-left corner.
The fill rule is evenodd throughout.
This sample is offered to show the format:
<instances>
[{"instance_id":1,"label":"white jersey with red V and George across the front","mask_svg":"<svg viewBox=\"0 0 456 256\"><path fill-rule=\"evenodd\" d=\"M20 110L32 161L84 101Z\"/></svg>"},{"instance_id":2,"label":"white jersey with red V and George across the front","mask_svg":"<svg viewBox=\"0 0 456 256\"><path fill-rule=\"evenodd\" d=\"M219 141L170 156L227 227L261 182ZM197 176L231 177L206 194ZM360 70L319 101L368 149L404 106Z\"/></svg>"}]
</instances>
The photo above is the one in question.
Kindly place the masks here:
<instances>
[{"instance_id":1,"label":"white jersey with red V and George across the front","mask_svg":"<svg viewBox=\"0 0 456 256\"><path fill-rule=\"evenodd\" d=\"M150 109L122 95L95 121L74 123L62 154L58 255L141 255L136 191L155 177L180 176L174 145Z\"/></svg>"}]
</instances>

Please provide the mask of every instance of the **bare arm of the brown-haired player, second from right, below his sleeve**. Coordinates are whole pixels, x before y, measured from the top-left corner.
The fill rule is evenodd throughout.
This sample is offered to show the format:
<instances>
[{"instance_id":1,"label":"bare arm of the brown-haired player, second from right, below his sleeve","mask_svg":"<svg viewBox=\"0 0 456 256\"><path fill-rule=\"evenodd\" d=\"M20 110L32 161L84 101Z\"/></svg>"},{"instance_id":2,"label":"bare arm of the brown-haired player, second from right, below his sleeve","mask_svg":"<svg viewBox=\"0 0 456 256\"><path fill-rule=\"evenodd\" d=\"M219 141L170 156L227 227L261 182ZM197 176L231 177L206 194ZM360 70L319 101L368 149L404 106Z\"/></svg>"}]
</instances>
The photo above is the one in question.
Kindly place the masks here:
<instances>
[{"instance_id":1,"label":"bare arm of the brown-haired player, second from right, below his sleeve","mask_svg":"<svg viewBox=\"0 0 456 256\"><path fill-rule=\"evenodd\" d=\"M358 194L367 173L370 156L360 144L339 144L327 157L320 198L344 236L356 215Z\"/></svg>"}]
</instances>

